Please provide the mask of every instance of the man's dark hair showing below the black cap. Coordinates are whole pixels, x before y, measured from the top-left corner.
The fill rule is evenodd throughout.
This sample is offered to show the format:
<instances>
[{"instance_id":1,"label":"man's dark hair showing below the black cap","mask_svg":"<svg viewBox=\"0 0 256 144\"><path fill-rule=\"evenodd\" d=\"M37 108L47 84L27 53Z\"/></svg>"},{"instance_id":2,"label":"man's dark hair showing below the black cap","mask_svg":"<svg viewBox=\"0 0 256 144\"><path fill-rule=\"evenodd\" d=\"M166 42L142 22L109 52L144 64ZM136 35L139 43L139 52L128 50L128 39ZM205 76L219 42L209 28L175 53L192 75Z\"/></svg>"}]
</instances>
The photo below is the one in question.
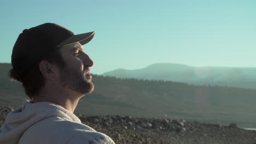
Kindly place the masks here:
<instances>
[{"instance_id":1,"label":"man's dark hair showing below the black cap","mask_svg":"<svg viewBox=\"0 0 256 144\"><path fill-rule=\"evenodd\" d=\"M44 57L42 61L43 60L54 63L60 68L65 67L65 62L63 61L63 58L61 56L60 49L50 53L50 55ZM9 70L10 80L20 81L25 89L26 95L30 97L30 99L36 97L36 95L38 95L38 93L40 92L40 89L45 84L45 79L39 69L40 62L38 62L32 68L28 69L26 73L22 74L21 76L17 75L14 69Z\"/></svg>"}]
</instances>

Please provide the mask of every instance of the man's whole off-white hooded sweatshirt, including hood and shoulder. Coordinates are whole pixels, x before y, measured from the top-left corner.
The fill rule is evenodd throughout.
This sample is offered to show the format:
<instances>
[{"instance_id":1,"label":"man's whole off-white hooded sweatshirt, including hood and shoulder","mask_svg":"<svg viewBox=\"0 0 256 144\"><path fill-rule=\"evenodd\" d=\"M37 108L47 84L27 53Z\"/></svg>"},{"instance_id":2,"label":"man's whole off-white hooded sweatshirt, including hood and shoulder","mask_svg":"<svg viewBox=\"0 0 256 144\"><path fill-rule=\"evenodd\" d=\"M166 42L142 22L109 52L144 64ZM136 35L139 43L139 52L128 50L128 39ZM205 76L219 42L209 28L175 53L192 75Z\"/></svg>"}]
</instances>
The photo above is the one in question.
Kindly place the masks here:
<instances>
[{"instance_id":1,"label":"man's whole off-white hooded sweatshirt, including hood and shoulder","mask_svg":"<svg viewBox=\"0 0 256 144\"><path fill-rule=\"evenodd\" d=\"M110 137L82 124L62 106L29 101L8 113L0 129L0 143L114 144Z\"/></svg>"}]
</instances>

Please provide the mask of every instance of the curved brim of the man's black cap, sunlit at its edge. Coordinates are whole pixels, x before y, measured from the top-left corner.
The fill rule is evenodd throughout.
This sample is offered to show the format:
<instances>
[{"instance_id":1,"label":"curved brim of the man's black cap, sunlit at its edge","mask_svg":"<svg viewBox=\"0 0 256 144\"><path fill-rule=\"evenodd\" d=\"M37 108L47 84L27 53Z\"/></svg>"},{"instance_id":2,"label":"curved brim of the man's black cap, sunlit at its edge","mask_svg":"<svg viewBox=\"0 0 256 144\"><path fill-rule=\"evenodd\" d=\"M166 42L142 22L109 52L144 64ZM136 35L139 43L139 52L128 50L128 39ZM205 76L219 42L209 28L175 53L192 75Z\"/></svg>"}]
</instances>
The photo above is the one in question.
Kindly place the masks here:
<instances>
[{"instance_id":1,"label":"curved brim of the man's black cap, sunlit at its edge","mask_svg":"<svg viewBox=\"0 0 256 144\"><path fill-rule=\"evenodd\" d=\"M76 42L79 42L81 45L85 45L85 44L89 43L89 41L91 41L92 38L94 38L95 33L96 32L94 31L94 32L89 32L89 33L72 35L68 39L62 41L62 43L57 45L57 47L68 45L68 44L73 44Z\"/></svg>"}]
</instances>

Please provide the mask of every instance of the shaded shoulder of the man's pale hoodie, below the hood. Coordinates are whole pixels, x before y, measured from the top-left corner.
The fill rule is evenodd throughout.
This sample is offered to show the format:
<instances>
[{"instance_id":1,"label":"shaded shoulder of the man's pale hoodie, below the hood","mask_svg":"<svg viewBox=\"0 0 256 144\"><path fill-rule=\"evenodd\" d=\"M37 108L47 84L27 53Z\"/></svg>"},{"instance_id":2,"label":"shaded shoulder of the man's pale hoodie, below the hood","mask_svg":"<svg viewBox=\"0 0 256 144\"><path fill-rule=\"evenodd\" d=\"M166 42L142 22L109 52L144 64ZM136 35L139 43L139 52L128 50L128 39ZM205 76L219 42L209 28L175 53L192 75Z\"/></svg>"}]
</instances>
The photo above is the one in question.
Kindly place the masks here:
<instances>
[{"instance_id":1,"label":"shaded shoulder of the man's pale hoodie, below the hood","mask_svg":"<svg viewBox=\"0 0 256 144\"><path fill-rule=\"evenodd\" d=\"M48 117L32 125L21 136L19 143L66 143L74 137L91 140L106 139L104 134L96 132L85 124L67 121L61 117ZM84 142L83 142L84 143Z\"/></svg>"}]
</instances>

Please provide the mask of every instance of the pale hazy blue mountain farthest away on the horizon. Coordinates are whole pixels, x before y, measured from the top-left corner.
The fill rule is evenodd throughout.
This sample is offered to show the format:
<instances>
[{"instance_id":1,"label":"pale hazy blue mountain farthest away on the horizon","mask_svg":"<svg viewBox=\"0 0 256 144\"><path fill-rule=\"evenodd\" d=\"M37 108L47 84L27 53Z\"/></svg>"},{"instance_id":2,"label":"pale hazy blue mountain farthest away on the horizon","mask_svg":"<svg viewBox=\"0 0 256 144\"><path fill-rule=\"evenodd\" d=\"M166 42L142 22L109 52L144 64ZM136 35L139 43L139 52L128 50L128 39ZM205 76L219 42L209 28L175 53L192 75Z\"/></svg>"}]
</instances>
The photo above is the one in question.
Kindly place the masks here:
<instances>
[{"instance_id":1,"label":"pale hazy blue mountain farthest away on the horizon","mask_svg":"<svg viewBox=\"0 0 256 144\"><path fill-rule=\"evenodd\" d=\"M108 71L103 76L256 89L256 68L191 67L183 64L156 63L137 70Z\"/></svg>"}]
</instances>

